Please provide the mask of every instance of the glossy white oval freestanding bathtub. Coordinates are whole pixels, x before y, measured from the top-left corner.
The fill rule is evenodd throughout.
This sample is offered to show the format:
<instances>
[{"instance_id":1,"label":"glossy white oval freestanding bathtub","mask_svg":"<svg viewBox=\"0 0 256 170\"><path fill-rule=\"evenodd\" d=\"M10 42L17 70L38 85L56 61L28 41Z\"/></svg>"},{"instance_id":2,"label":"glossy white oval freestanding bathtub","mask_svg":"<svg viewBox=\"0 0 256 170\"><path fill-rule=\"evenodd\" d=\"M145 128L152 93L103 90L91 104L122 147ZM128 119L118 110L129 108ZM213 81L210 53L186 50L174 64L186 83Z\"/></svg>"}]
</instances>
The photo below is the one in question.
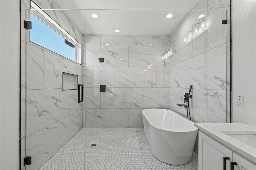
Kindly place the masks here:
<instances>
[{"instance_id":1,"label":"glossy white oval freestanding bathtub","mask_svg":"<svg viewBox=\"0 0 256 170\"><path fill-rule=\"evenodd\" d=\"M144 109L142 117L145 136L158 160L172 165L190 162L198 131L192 121L165 109Z\"/></svg>"}]
</instances>

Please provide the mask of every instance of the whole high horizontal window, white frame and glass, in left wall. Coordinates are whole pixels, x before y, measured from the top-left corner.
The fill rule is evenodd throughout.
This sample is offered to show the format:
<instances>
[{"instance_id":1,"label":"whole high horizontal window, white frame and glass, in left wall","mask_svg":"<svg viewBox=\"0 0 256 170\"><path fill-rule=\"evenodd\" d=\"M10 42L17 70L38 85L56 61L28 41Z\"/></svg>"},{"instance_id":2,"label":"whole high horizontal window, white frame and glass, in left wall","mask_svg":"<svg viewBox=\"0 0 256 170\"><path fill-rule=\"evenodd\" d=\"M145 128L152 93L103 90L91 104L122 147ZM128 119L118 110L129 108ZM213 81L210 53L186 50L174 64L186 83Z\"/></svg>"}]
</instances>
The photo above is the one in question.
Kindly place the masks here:
<instances>
[{"instance_id":1,"label":"whole high horizontal window, white frame and glass, in left wall","mask_svg":"<svg viewBox=\"0 0 256 170\"><path fill-rule=\"evenodd\" d=\"M32 1L31 9L30 41L82 64L82 45Z\"/></svg>"}]
</instances>

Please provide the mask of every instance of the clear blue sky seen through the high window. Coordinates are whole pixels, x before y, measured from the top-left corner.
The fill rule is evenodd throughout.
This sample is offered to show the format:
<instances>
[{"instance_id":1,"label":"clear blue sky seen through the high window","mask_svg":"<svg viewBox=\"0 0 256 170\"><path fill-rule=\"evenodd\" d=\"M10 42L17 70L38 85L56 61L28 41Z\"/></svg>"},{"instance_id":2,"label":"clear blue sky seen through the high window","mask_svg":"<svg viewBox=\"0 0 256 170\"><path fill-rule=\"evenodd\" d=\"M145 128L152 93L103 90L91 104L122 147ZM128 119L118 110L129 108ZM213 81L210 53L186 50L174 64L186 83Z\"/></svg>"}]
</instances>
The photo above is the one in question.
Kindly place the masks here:
<instances>
[{"instance_id":1,"label":"clear blue sky seen through the high window","mask_svg":"<svg viewBox=\"0 0 256 170\"><path fill-rule=\"evenodd\" d=\"M32 13L30 13L30 21L32 21L32 29L30 29L31 42L76 61L76 48L72 48L65 44L64 37L39 20Z\"/></svg>"}]
</instances>

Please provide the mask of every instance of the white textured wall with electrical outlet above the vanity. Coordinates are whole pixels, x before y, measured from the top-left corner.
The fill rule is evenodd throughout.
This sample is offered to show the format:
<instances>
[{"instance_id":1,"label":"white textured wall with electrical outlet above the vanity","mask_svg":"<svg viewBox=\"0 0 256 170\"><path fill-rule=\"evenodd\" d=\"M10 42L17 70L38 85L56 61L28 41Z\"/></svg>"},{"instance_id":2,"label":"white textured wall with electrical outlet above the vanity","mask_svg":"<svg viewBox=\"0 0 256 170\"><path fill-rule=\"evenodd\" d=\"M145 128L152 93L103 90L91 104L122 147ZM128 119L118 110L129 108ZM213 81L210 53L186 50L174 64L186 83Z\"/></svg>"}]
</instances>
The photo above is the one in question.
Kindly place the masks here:
<instances>
[{"instance_id":1,"label":"white textured wall with electrical outlet above the vanity","mask_svg":"<svg viewBox=\"0 0 256 170\"><path fill-rule=\"evenodd\" d=\"M232 1L232 122L256 126L256 1ZM244 95L244 106L236 105Z\"/></svg>"}]
</instances>

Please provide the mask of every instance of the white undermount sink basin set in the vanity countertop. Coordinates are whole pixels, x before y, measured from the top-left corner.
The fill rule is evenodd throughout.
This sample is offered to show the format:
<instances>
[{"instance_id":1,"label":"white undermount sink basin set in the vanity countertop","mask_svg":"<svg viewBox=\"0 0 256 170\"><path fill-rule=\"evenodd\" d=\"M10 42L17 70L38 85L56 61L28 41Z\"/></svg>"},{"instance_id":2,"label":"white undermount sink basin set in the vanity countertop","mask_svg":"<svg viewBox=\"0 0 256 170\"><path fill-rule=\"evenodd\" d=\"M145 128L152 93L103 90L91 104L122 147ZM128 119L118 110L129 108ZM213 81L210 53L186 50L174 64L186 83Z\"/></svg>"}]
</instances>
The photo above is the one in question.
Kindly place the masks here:
<instances>
[{"instance_id":1,"label":"white undermount sink basin set in the vanity countertop","mask_svg":"<svg viewBox=\"0 0 256 170\"><path fill-rule=\"evenodd\" d=\"M256 149L256 131L222 131L222 133Z\"/></svg>"}]
</instances>

